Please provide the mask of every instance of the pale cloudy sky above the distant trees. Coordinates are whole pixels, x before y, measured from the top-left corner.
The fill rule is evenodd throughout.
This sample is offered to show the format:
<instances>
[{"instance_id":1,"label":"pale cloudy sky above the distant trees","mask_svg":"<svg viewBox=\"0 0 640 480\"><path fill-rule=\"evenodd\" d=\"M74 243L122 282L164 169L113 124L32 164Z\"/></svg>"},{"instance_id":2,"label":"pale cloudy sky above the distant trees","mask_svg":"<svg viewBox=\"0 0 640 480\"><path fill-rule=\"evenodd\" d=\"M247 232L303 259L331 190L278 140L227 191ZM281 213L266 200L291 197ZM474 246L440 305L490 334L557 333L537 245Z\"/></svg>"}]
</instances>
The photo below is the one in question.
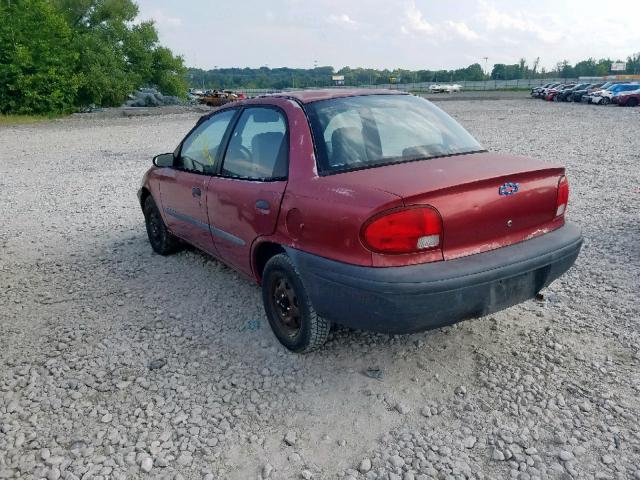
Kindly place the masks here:
<instances>
[{"instance_id":1,"label":"pale cloudy sky above the distant trees","mask_svg":"<svg viewBox=\"0 0 640 480\"><path fill-rule=\"evenodd\" d=\"M451 69L640 52L637 2L137 0L187 66ZM628 12L628 13L627 13Z\"/></svg>"}]
</instances>

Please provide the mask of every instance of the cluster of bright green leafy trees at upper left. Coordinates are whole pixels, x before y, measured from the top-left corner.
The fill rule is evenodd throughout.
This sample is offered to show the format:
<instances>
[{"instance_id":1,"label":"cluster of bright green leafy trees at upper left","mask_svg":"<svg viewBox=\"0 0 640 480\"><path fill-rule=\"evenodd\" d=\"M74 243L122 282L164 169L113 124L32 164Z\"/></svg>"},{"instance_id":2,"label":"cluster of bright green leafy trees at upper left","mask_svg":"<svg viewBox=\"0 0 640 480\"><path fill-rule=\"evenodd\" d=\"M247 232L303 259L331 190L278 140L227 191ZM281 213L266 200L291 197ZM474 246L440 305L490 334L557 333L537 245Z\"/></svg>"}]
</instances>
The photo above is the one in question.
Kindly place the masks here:
<instances>
[{"instance_id":1,"label":"cluster of bright green leafy trees at upper left","mask_svg":"<svg viewBox=\"0 0 640 480\"><path fill-rule=\"evenodd\" d=\"M141 86L184 95L183 59L132 0L0 0L0 112L121 105Z\"/></svg>"}]
</instances>

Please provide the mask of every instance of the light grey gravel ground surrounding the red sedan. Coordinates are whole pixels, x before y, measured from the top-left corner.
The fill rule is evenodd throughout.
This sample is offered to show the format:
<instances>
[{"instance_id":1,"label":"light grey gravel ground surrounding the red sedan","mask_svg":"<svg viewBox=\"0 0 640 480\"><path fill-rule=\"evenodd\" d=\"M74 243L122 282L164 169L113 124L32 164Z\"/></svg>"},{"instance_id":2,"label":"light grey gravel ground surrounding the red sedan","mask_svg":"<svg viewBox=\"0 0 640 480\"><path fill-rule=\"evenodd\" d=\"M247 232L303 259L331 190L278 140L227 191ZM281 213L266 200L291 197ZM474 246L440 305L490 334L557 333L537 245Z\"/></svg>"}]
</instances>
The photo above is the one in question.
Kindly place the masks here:
<instances>
[{"instance_id":1,"label":"light grey gravel ground surrounding the red sedan","mask_svg":"<svg viewBox=\"0 0 640 480\"><path fill-rule=\"evenodd\" d=\"M196 113L0 128L0 479L640 479L640 109L442 107L567 166L576 266L543 301L306 356L256 286L147 243L138 183Z\"/></svg>"}]
</instances>

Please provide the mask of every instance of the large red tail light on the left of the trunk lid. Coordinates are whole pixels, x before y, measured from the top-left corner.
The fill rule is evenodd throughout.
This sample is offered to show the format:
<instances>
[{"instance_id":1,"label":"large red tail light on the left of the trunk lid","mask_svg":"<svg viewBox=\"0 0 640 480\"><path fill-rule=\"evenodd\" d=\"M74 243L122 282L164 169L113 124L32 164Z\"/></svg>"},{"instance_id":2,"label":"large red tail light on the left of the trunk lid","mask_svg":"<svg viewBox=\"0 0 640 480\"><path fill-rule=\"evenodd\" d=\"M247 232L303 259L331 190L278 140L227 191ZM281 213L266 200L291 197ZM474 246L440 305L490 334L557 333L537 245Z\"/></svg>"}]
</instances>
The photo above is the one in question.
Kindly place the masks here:
<instances>
[{"instance_id":1,"label":"large red tail light on the left of the trunk lid","mask_svg":"<svg viewBox=\"0 0 640 480\"><path fill-rule=\"evenodd\" d=\"M433 250L442 242L442 219L432 207L392 210L365 223L361 236L364 245L378 253Z\"/></svg>"}]
</instances>

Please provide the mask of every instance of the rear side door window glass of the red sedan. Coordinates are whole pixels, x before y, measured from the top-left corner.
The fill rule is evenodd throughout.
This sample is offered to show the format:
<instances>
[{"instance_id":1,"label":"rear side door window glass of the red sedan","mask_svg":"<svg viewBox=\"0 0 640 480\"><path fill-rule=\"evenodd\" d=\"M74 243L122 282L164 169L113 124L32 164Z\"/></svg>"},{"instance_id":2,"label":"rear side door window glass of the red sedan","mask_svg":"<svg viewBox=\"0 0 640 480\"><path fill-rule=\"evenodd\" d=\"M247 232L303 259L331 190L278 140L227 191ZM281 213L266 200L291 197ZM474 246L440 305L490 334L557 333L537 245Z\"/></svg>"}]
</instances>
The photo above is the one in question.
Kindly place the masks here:
<instances>
[{"instance_id":1,"label":"rear side door window glass of the red sedan","mask_svg":"<svg viewBox=\"0 0 640 480\"><path fill-rule=\"evenodd\" d=\"M275 108L246 108L229 139L222 175L248 180L284 179L288 157L285 116Z\"/></svg>"}]
</instances>

